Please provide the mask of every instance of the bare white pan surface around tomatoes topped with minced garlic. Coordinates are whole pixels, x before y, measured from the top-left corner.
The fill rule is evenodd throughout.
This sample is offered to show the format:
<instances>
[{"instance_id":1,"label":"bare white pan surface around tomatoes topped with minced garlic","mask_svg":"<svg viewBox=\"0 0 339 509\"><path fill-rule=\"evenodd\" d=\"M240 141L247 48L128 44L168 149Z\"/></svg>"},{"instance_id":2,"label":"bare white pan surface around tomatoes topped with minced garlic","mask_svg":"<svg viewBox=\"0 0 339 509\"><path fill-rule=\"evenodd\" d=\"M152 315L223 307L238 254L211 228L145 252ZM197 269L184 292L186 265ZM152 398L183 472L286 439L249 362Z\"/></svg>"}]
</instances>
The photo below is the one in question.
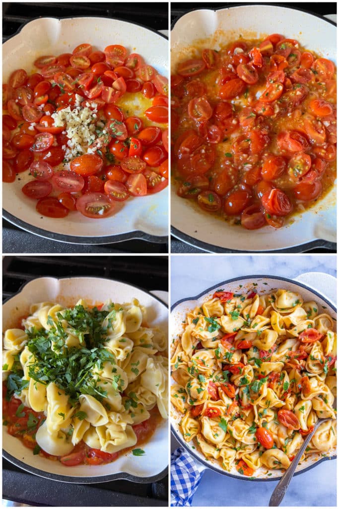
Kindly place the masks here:
<instances>
[{"instance_id":1,"label":"bare white pan surface around tomatoes topped with minced garlic","mask_svg":"<svg viewBox=\"0 0 339 509\"><path fill-rule=\"evenodd\" d=\"M27 23L3 45L3 80L6 82L15 69L32 70L38 56L72 52L83 42L100 50L109 44L121 44L129 52L140 53L160 74L168 75L168 41L151 30L108 18L41 18ZM137 110L134 115L138 116ZM7 219L15 223L18 218L21 222L18 225L30 232L61 241L69 236L67 241L75 243L79 242L79 237L83 243L106 243L114 241L114 235L140 237L132 232L155 237L168 233L168 188L149 196L131 197L107 218L90 219L79 212L71 212L66 218L55 219L40 216L35 208L36 200L22 193L22 186L32 180L28 172L19 177L21 180L3 184L3 207L13 216L6 216Z\"/></svg>"}]
</instances>

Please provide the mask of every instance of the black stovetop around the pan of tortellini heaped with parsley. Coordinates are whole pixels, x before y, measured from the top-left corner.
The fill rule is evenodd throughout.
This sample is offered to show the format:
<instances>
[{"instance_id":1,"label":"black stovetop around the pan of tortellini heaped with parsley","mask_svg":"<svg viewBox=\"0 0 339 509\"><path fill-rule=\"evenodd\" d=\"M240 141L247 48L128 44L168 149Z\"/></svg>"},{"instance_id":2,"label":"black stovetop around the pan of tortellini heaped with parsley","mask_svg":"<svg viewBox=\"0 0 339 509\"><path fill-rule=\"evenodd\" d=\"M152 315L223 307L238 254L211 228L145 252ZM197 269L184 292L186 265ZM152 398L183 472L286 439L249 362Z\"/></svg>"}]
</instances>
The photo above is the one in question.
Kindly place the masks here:
<instances>
[{"instance_id":1,"label":"black stovetop around the pan of tortellini heaped with parsley","mask_svg":"<svg viewBox=\"0 0 339 509\"><path fill-rule=\"evenodd\" d=\"M168 291L168 257L7 256L3 260L3 299L15 295L27 281L40 276L100 276L144 290ZM76 485L24 472L3 461L3 498L29 505L167 506L168 476L156 483L127 480Z\"/></svg>"}]
</instances>

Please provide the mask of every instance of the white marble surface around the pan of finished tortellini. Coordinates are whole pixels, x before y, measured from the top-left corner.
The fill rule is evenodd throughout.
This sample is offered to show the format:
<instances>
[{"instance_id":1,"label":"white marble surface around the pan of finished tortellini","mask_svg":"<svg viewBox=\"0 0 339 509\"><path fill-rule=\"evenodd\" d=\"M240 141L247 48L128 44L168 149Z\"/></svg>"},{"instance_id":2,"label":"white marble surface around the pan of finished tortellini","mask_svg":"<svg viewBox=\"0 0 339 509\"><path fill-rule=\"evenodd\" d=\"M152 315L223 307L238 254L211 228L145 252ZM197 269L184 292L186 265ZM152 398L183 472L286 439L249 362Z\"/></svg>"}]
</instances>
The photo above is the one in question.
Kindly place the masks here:
<instances>
[{"instance_id":1,"label":"white marble surface around the pan of finished tortellini","mask_svg":"<svg viewBox=\"0 0 339 509\"><path fill-rule=\"evenodd\" d=\"M294 278L305 272L336 277L334 255L171 256L171 303L199 294L225 279L250 274ZM172 443L172 448L175 448ZM267 506L276 482L240 481L205 470L193 506ZM282 506L336 506L336 460L292 478Z\"/></svg>"}]
</instances>

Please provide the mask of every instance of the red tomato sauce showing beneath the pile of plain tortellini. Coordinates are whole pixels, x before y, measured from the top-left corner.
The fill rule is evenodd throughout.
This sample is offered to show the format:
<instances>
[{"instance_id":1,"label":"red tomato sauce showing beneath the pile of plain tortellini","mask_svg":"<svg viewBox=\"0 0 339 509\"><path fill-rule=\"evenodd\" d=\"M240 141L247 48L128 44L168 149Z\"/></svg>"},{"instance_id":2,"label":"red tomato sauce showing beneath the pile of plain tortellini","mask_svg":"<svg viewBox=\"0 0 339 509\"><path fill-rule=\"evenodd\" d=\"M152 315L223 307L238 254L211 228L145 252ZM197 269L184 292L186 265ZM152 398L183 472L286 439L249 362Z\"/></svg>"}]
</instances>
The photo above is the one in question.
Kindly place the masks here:
<instances>
[{"instance_id":1,"label":"red tomato sauce showing beneath the pile of plain tortellini","mask_svg":"<svg viewBox=\"0 0 339 509\"><path fill-rule=\"evenodd\" d=\"M133 447L118 451L118 453L104 453L100 449L93 449L81 441L70 454L66 456L52 456L45 453L38 446L35 439L37 430L45 419L45 414L43 412L35 412L25 406L20 407L21 401L15 398L14 395L7 401L6 394L7 386L6 382L3 382L3 423L7 426L8 433L19 438L26 447L33 449L34 454L39 454L53 461L60 461L67 466L111 463L122 454L126 454L128 451L148 442L162 421L158 408L149 410L149 419L132 426L138 439L137 443Z\"/></svg>"}]
</instances>

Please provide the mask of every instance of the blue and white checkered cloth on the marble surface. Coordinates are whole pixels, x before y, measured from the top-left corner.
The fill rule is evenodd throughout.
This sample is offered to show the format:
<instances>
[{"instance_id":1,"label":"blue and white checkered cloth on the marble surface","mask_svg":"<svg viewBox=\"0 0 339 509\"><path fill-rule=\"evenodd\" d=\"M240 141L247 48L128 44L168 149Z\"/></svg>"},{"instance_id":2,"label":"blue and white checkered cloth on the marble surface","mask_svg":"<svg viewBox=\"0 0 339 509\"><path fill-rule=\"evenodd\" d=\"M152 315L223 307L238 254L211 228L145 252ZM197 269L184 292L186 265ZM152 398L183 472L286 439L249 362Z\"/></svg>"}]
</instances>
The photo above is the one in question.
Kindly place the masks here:
<instances>
[{"instance_id":1,"label":"blue and white checkered cloth on the marble surface","mask_svg":"<svg viewBox=\"0 0 339 509\"><path fill-rule=\"evenodd\" d=\"M200 472L194 458L179 447L171 454L171 505L191 505L193 495L199 486L203 471Z\"/></svg>"}]
</instances>

